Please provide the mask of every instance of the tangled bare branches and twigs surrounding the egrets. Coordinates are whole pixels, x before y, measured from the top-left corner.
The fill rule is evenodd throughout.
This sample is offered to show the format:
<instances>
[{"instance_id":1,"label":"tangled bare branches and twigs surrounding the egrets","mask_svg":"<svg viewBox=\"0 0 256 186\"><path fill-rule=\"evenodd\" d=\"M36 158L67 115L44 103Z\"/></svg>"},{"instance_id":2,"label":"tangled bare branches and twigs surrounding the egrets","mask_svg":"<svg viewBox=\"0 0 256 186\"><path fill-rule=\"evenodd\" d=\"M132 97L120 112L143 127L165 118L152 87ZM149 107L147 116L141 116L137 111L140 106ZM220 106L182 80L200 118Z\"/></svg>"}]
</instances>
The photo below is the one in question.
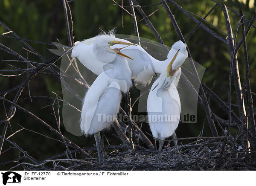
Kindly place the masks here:
<instances>
[{"instance_id":1,"label":"tangled bare branches and twigs surrounding the egrets","mask_svg":"<svg viewBox=\"0 0 256 186\"><path fill-rule=\"evenodd\" d=\"M69 46L74 44L73 36L73 19L70 9L70 2L65 0L63 2L64 15L66 21L67 37ZM128 12L133 19L134 31L137 37L137 43L141 44L140 34L138 29L138 24L143 24L142 20L145 20L146 26L149 27L151 32L154 34L157 41L159 41L163 51L168 51L168 47L164 44L163 39L160 37L160 34L157 32L157 29L154 28L153 24L150 21L150 16L157 12L159 9L156 9L151 15L146 15L144 12L145 6L141 6L137 3L136 0L129 0L129 6L123 6L116 1L113 1L118 7L125 12ZM214 1L215 2L215 1ZM16 39L21 42L29 54L32 54L33 57L27 58L22 56L20 53L15 52L15 49L11 49L8 46L0 43L0 50L7 53L10 56L13 56L15 60L3 60L8 63L9 67L12 69L1 69L0 75L3 78L17 78L22 79L22 81L11 87L8 90L0 90L0 100L3 102L3 112L4 115L0 118L1 125L1 140L0 140L0 156L4 157L5 161L0 162L0 165L6 166L10 165L10 169L25 169L25 170L254 170L255 169L255 151L256 151L256 128L255 128L255 109L253 108L253 97L254 93L251 92L250 87L250 74L249 74L249 62L248 62L248 51L246 37L250 32L250 29L253 27L253 21L255 16L253 15L249 20L244 18L243 12L236 12L235 10L227 7L225 4L215 2L215 5L209 10L209 12L204 16L200 17L195 15L192 12L189 12L183 9L179 4L174 0L161 0L160 3L151 6L161 5L166 10L166 17L168 16L172 22L172 26L177 33L177 37L186 42L191 38L192 35L197 33L198 28L202 28L209 35L212 35L215 39L223 42L229 48L230 55L230 73L229 73L229 87L227 88L228 92L228 102L224 102L214 91L213 87L207 87L206 84L200 81L198 76L197 69L192 60L192 54L190 53L189 48L187 47L189 55L189 65L191 72L182 69L181 81L189 87L192 94L195 97L198 97L198 103L201 105L201 108L205 112L205 121L209 124L212 137L188 137L182 140L192 140L190 143L179 145L180 155L183 157L183 161L177 162L177 152L174 148L169 147L169 143L162 152L160 158L160 163L154 164L155 154L155 144L154 140L150 134L142 128L141 122L135 122L132 118L132 108L134 103L142 96L144 93L135 99L134 103L131 103L132 95L124 96L125 103L120 108L120 112L128 117L128 122L123 122L121 120L116 120L114 124L114 129L116 131L116 138L120 139L122 142L121 145L111 145L103 134L103 139L108 142L108 145L105 145L105 148L108 149L110 153L108 159L105 160L105 163L99 164L97 159L94 158L96 147L87 147L82 148L82 144L77 144L66 137L66 135L61 132L61 102L63 104L69 105L78 111L79 108L76 105L72 105L61 97L61 93L53 92L52 97L44 96L45 98L51 100L51 104L47 106L52 107L52 115L54 116L55 123L47 122L47 118L41 118L35 114L35 110L27 110L23 102L18 102L20 97L23 95L23 90L25 87L28 87L29 99L32 104L32 96L30 96L29 82L35 78L36 75L42 76L52 76L57 78L64 85L65 90L70 92L74 97L76 97L79 102L82 100L82 96L79 95L72 87L66 82L66 79L72 81L73 83L78 84L84 90L90 87L82 73L79 70L79 65L76 61L73 63L70 61L70 64L67 68L73 68L76 71L76 77L70 76L66 71L60 68L55 61L59 58L58 55L53 56L52 58L45 59L37 50L35 50L28 42L35 42L38 44L48 44L44 42L32 41L21 38L15 33L14 30L10 29L5 23L0 21L1 26L6 29L6 32L1 35L1 37ZM148 5L147 5L148 6ZM183 33L180 31L178 23L175 20L175 16L172 13L172 9L179 9L184 16L184 19L188 17L190 20L196 23L196 26L191 30L191 32L184 37ZM206 18L207 16L213 14L213 10L221 7L224 14L227 33L209 23ZM131 12L127 9L131 9ZM137 20L135 16L135 10L141 15L143 19L140 21ZM232 26L230 23L230 14L239 17L239 22L236 24L236 32L233 33ZM198 20L199 19L199 20ZM247 25L247 26L246 26ZM217 31L218 32L217 32ZM241 30L241 32L239 31ZM221 34L220 34L221 33ZM12 35L12 36L10 36ZM238 37L239 36L239 37ZM240 37L241 36L241 37ZM238 38L241 38L240 41ZM48 44L53 45L53 44ZM56 45L56 44L55 44ZM238 61L238 52L243 45L244 51L244 63L243 61ZM62 46L59 44L59 47L67 51L70 47ZM154 51L149 51L151 54L154 54ZM37 58L35 60L35 57ZM163 56L161 56L164 58ZM12 62L22 62L26 67L20 67L19 65L15 66ZM38 62L40 61L40 62ZM241 78L239 72L239 64L244 64L245 67L245 85L241 85ZM7 74L8 73L8 74ZM27 76L24 76L27 75ZM233 77L233 78L232 78ZM233 80L232 80L233 79ZM194 81L193 84L191 81ZM233 84L232 84L233 81ZM17 81L19 82L19 81ZM199 92L197 87L194 86L197 84L199 87ZM231 99L231 87L234 85L236 92L236 102L238 107L238 112L232 110L233 99ZM145 91L146 93L146 91ZM247 95L247 96L246 96ZM43 96L38 96L38 98L43 98ZM219 109L227 113L228 120L222 119L217 116L211 109L209 102L210 99L218 105ZM248 108L248 109L247 109ZM248 110L248 112L247 112ZM17 112L21 112L29 116L29 118L35 120L36 124L40 124L45 127L51 135L42 134L38 131L32 130L30 128L25 128L20 124L13 123L12 125L18 125L20 127L17 131L12 131L11 121ZM139 125L141 124L141 125ZM9 131L8 131L9 130ZM230 132L231 130L235 131ZM10 132L12 131L12 132ZM35 135L40 135L47 140L53 140L63 145L65 148L64 152L57 154L55 156L49 156L47 158L42 158L37 160L32 154L27 153L27 149L21 147L20 141L13 141L12 137L21 135L23 131L33 133ZM113 132L114 133L114 132ZM9 136L7 136L9 134ZM115 135L115 134L114 134ZM56 138L55 138L56 137ZM169 141L170 142L170 141ZM38 143L38 142L35 142ZM44 144L47 148L47 144ZM26 145L25 145L26 146ZM38 148L39 148L38 144ZM8 159L5 157L9 151L15 151L16 157ZM18 152L18 153L17 153ZM1 158L2 159L2 158ZM3 159L2 159L3 160Z\"/></svg>"}]
</instances>

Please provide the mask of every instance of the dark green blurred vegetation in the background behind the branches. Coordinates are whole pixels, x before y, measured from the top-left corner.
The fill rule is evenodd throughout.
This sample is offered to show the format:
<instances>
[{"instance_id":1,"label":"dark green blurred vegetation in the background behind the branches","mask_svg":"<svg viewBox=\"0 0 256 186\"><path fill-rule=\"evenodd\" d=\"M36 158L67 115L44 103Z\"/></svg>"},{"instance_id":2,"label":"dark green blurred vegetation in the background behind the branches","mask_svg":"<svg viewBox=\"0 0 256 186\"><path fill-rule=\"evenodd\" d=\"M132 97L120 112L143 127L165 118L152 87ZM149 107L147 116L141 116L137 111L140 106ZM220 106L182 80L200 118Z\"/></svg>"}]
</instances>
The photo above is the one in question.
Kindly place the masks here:
<instances>
[{"instance_id":1,"label":"dark green blurred vegetation in the background behind the branches","mask_svg":"<svg viewBox=\"0 0 256 186\"><path fill-rule=\"evenodd\" d=\"M121 4L121 0L116 1ZM159 9L153 15L149 17L154 27L157 29L159 35L165 42L167 46L172 46L172 44L179 40L175 32L174 27L172 26L171 20L168 17L166 10L162 7L162 4L156 6L146 6L159 3L158 0L138 0L140 5L144 5L143 10L146 15L150 15L152 12ZM194 1L194 0L180 0L180 6L183 9L186 9L194 14L204 17L204 15L209 12L209 9L215 5L215 2L210 0L208 1ZM70 3L70 9L73 16L73 34L75 36L74 41L81 41L86 38L91 38L95 35L98 35L100 29L105 31L116 28L117 34L125 35L134 35L134 23L131 15L127 12L122 11L122 9L117 6L112 0L94 0L94 1L84 1L84 0L73 0ZM125 9L129 12L130 6L129 1L123 1ZM246 3L233 3L233 1L228 1L227 6L231 6L237 12L239 8L243 8L245 18L250 20L252 14L255 13L255 9L247 6ZM179 9L175 8L171 3L169 7L172 10L173 15L177 24L180 27L181 32L184 37L186 37L192 29L196 26L195 22L192 22L188 17L186 17ZM140 13L135 9L138 29L140 36L143 38L148 38L154 41L157 41L151 32L150 28L145 25L145 20L140 16ZM232 23L233 33L235 33L236 25L239 21L238 16L236 16L231 11L230 22ZM196 19L198 17L194 16ZM224 15L221 9L221 6L218 6L206 19L209 23L212 23L214 26L218 27L225 33L227 33L227 28L225 24ZM61 44L68 45L67 40L67 30L65 24L65 17L63 11L63 3L61 0L23 0L17 2L16 0L1 0L0 1L0 21L9 26L10 29L15 31L23 39L29 39L33 41L41 41L44 43L34 43L27 41L33 48L35 48L45 59L49 59L53 56L49 52L48 48L54 49L55 47L49 45L52 42L60 42ZM205 25L211 27L215 32L226 37L222 32L210 26L208 23ZM123 25L123 26L122 26ZM246 24L247 25L247 24ZM245 25L245 27L246 27ZM100 29L99 29L100 28ZM7 32L3 26L0 26L0 34ZM238 30L239 35L237 41L241 39L241 28ZM250 83L252 92L256 92L256 29L252 28L247 36L247 49L248 49L248 58L250 64ZM30 61L42 62L40 58L36 55L33 55L31 52L28 52L20 41L14 38L8 38L12 36L11 34L5 34L6 37L0 35L0 43L8 46L14 51L18 52L24 57L28 57ZM228 46L221 41L217 40L215 37L210 35L201 27L189 38L187 41L193 60L197 61L199 64L203 65L206 68L202 81L208 86L212 87L213 82L215 81L215 86L213 91L225 102L228 102L228 79L230 71L230 53ZM7 62L2 61L6 60L17 60L12 55L0 50L0 69L11 69L8 64L13 64L16 67L26 68L26 63L21 62ZM238 53L239 61L239 73L241 77L241 84L244 84L244 53L243 50L240 50ZM56 63L60 65L60 61ZM8 72L1 72L1 74L8 74ZM20 75L20 78L17 77L5 77L0 76L0 91L8 90L12 87L15 87L17 84L23 82L23 79L28 76L27 73ZM29 98L32 96L32 102ZM231 97L232 103L236 103L236 94L234 93L235 88L232 86ZM39 118L44 119L45 122L51 124L52 127L56 128L55 117L52 113L52 100L48 98L42 98L38 96L49 96L55 97L52 93L61 93L61 82L55 76L45 76L42 74L37 74L31 81L29 81L29 87L26 86L22 92L20 99L17 104L22 105L23 108L34 113ZM15 93L9 93L6 96L6 99L12 100L15 96ZM1 95L2 96L2 95ZM253 99L256 99L255 94L253 94ZM2 102L1 102L2 104ZM2 104L3 105L3 104ZM0 120L6 118L6 112L3 109L3 106L0 106ZM9 104L6 105L6 110L10 108ZM219 110L218 106L215 105L215 102L210 101L211 109L219 117L223 119L228 119L228 115L222 110ZM235 113L238 113L238 108L234 105L232 110ZM177 137L195 137L198 136L202 130L203 121L205 118L204 110L198 105L198 123L197 124L180 124L177 128ZM41 134L45 134L49 137L55 137L47 129L45 129L41 124L32 119L30 116L24 114L20 110L17 110L15 116L10 121L11 125L7 129L6 137L11 135L13 132L19 130L21 126L32 131L37 131ZM143 124L144 130L151 134L147 124ZM217 126L218 129L218 126ZM3 123L0 124L0 131L3 130ZM80 147L90 147L93 146L94 138L89 137L76 137L72 134L65 131L64 126L61 125L61 131L64 136L66 136L71 141L78 144ZM221 131L219 135L223 135ZM119 144L120 141L116 140L117 138L112 134L115 132L111 131L106 132L108 135L108 140L111 144ZM231 130L231 134L233 134ZM235 134L233 134L235 135ZM203 136L212 136L207 124L205 122L204 134ZM150 137L148 135L150 139ZM23 130L20 131L19 135L10 137L13 142L17 142L21 148L27 151L28 154L33 154L33 157L37 160L44 160L47 157L59 154L66 150L65 145L59 142L55 142L51 139L42 137L34 132ZM183 143L189 141L182 141ZM171 144L172 145L172 144ZM8 149L9 143L5 142L3 145L3 151L0 156L0 162L10 160L11 158L17 158L18 151L11 150L4 152ZM2 166L1 169L9 169L15 164Z\"/></svg>"}]
</instances>

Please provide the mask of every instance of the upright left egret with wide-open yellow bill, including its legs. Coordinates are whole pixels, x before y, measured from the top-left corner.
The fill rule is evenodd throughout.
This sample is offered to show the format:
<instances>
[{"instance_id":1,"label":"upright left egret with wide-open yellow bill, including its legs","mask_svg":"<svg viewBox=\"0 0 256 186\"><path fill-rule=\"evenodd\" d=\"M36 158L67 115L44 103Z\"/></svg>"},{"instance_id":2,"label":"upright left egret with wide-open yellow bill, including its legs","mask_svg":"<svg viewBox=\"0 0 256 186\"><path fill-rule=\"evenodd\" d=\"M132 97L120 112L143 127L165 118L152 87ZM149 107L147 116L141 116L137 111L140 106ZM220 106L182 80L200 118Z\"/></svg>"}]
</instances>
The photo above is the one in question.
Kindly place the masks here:
<instances>
[{"instance_id":1,"label":"upright left egret with wide-open yellow bill, including its legs","mask_svg":"<svg viewBox=\"0 0 256 186\"><path fill-rule=\"evenodd\" d=\"M88 89L81 110L80 128L87 136L94 134L99 162L102 162L106 152L100 140L99 131L109 128L116 114L119 112L121 91L126 93L132 85L131 70L126 58L130 58L120 52L122 48L114 48L115 44L130 45L117 41L113 35L100 35L93 38L92 47L94 56L87 56L93 60L102 61L104 71L99 74L91 87ZM84 53L87 50L83 51ZM97 64L95 64L97 66Z\"/></svg>"}]
</instances>

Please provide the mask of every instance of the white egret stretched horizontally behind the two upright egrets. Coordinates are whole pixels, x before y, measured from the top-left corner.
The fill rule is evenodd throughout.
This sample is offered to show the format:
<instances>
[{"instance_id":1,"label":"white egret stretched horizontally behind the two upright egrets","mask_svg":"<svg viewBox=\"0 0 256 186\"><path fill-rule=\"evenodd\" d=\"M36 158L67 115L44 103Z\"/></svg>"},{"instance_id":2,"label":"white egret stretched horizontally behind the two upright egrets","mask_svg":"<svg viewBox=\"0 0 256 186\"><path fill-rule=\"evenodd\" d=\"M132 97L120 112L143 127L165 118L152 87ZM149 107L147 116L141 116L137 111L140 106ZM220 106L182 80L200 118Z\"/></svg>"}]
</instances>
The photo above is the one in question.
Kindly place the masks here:
<instances>
[{"instance_id":1,"label":"white egret stretched horizontally behind the two upright egrets","mask_svg":"<svg viewBox=\"0 0 256 186\"><path fill-rule=\"evenodd\" d=\"M113 34L111 34L111 36L114 37ZM71 55L72 58L77 57L79 61L87 67L87 69L91 70L96 75L102 73L105 70L105 64L112 60L112 58L108 58L108 60L106 60L104 55L102 58L98 57L99 53L96 51L96 42L99 40L98 37L102 36L96 36L81 42L77 41L72 49ZM132 44L130 41L120 38L116 38L116 40L131 44L122 49L122 53L132 58L127 58L132 73L131 78L143 85L150 84L155 73L163 72L163 67L166 67L166 64L168 65L170 62L170 56L175 55L175 53L173 53L174 50L170 50L167 55L168 59L165 61L159 61L149 55L143 47L137 44ZM183 44L182 41L178 41L178 43ZM116 47L118 46L119 45L116 45ZM185 51L180 51L180 53L182 52Z\"/></svg>"}]
</instances>

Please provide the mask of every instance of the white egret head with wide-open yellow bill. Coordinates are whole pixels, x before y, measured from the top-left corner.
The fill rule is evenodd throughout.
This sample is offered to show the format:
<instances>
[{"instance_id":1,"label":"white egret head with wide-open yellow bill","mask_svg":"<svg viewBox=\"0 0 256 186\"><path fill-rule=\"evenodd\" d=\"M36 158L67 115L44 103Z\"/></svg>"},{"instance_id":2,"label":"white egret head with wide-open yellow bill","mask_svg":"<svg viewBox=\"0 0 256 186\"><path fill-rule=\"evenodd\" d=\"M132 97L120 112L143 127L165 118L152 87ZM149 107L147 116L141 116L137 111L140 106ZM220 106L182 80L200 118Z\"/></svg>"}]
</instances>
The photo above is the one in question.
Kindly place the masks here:
<instances>
[{"instance_id":1,"label":"white egret head with wide-open yellow bill","mask_svg":"<svg viewBox=\"0 0 256 186\"><path fill-rule=\"evenodd\" d=\"M129 46L129 45L135 45L132 43L127 43L123 41L118 41L118 38L115 38L114 35L98 35L95 37L95 43L93 45L93 53L96 56L96 58L99 61L102 61L103 63L110 63L115 58L116 55L122 55L126 58L130 58L129 56L122 54L120 52L121 49ZM113 45L115 44L123 44L126 45L122 48L115 48ZM130 58L131 59L131 58Z\"/></svg>"}]
</instances>

